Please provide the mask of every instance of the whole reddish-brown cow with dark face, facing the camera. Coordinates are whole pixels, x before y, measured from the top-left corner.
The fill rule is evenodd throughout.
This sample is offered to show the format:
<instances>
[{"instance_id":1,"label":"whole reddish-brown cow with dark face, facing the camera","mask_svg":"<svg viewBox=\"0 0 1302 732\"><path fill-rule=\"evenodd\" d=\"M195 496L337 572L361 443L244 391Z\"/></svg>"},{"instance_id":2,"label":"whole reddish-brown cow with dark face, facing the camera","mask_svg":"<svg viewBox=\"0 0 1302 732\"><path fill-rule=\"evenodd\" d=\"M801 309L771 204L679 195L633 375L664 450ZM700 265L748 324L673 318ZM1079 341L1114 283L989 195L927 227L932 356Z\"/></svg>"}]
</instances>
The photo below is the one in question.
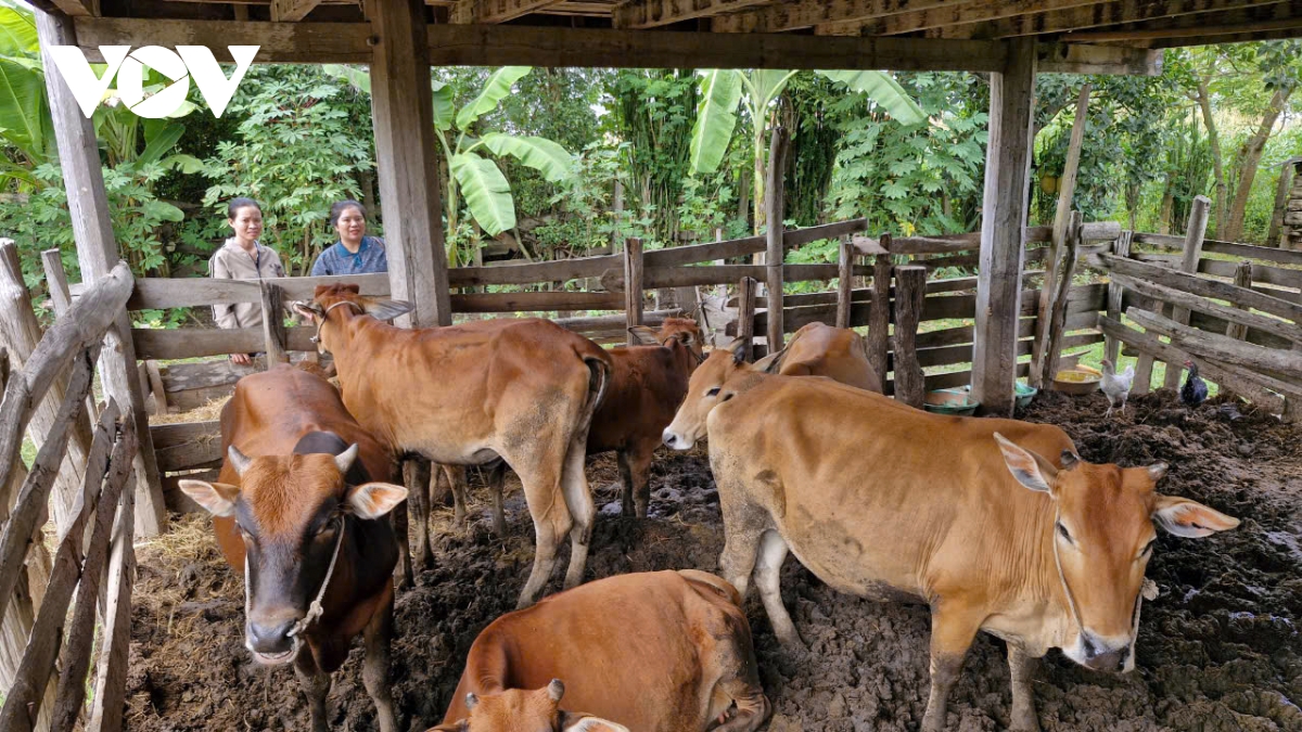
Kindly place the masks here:
<instances>
[{"instance_id":1,"label":"whole reddish-brown cow with dark face, facing the camera","mask_svg":"<svg viewBox=\"0 0 1302 732\"><path fill-rule=\"evenodd\" d=\"M279 366L240 379L221 409L219 482L181 481L212 513L217 543L245 576L245 646L263 664L294 664L324 732L329 675L365 634L362 679L380 729L389 696L397 539L384 517L406 498L393 460L320 376Z\"/></svg>"}]
</instances>

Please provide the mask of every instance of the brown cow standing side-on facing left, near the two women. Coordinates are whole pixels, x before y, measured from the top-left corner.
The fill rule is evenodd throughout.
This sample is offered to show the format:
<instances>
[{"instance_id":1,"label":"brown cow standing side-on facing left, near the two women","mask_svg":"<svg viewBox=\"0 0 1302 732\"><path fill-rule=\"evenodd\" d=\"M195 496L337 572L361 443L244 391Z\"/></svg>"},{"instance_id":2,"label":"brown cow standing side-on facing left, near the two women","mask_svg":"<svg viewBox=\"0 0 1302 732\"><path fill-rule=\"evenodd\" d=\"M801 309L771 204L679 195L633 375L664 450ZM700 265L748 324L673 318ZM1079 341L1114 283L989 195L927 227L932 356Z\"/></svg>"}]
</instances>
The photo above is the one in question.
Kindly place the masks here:
<instances>
[{"instance_id":1,"label":"brown cow standing side-on facing left, near the two women","mask_svg":"<svg viewBox=\"0 0 1302 732\"><path fill-rule=\"evenodd\" d=\"M294 305L316 324L319 348L335 356L344 404L384 444L440 464L504 460L519 475L536 537L519 607L543 590L566 533L565 587L577 586L596 516L585 445L611 357L536 318L413 330L383 322L410 307L362 297L357 285L318 287L311 303Z\"/></svg>"}]
</instances>

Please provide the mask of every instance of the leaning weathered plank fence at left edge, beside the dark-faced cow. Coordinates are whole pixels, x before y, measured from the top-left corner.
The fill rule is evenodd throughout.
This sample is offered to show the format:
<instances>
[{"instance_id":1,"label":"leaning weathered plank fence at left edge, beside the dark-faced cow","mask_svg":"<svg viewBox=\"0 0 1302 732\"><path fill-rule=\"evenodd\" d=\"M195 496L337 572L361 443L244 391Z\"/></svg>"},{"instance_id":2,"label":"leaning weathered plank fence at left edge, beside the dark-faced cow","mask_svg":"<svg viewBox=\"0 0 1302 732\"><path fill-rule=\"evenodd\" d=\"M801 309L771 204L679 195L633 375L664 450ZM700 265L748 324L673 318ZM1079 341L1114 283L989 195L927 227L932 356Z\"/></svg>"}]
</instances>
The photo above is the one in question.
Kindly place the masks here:
<instances>
[{"instance_id":1,"label":"leaning weathered plank fence at left edge, beside the dark-faced cow","mask_svg":"<svg viewBox=\"0 0 1302 732\"><path fill-rule=\"evenodd\" d=\"M105 335L132 288L130 270L118 263L46 331L21 369L9 367L8 352L0 357L0 689L5 689L0 729L122 728L135 521L134 491L124 488L132 483L137 439L132 419L120 418L115 401L87 414L87 397ZM65 374L55 419L27 470L21 460L23 434ZM66 473L61 465L70 435L87 417L96 426L79 465L81 490L56 525L51 559L43 534L49 494L56 477ZM7 507L18 486L10 512ZM86 710L91 660L94 702Z\"/></svg>"}]
</instances>

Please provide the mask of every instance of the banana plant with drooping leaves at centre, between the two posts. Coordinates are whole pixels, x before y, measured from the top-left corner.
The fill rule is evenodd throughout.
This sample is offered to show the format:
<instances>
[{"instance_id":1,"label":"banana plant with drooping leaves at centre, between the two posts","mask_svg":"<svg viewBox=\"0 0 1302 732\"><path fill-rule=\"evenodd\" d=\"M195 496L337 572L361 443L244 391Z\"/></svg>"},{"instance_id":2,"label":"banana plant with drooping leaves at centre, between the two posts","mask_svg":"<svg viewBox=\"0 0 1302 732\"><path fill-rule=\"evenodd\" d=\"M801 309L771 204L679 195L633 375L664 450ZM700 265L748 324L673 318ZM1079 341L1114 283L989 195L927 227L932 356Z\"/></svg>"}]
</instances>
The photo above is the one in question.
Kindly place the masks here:
<instances>
[{"instance_id":1,"label":"banana plant with drooping leaves at centre, between the two posts","mask_svg":"<svg viewBox=\"0 0 1302 732\"><path fill-rule=\"evenodd\" d=\"M755 233L764 227L764 160L766 132L771 108L786 82L797 72L759 69L740 72L734 69L710 69L700 77L700 103L697 107L697 122L691 128L691 171L693 173L712 173L728 151L733 130L737 128L738 104L745 106L751 120L754 134L751 154L755 163L754 206ZM867 94L892 117L905 125L915 125L927 120L926 113L909 92L894 78L884 72L816 72L853 91Z\"/></svg>"}]
</instances>

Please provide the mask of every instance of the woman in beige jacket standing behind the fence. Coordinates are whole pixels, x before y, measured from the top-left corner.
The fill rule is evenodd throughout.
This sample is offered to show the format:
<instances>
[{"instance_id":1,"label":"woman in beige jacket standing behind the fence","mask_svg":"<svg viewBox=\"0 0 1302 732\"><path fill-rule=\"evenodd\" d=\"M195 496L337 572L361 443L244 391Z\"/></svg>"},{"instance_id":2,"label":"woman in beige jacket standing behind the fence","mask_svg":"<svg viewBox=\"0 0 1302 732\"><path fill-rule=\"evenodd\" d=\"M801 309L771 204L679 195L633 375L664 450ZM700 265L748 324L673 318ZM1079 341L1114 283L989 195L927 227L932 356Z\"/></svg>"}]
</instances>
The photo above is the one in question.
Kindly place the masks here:
<instances>
[{"instance_id":1,"label":"woman in beige jacket standing behind the fence","mask_svg":"<svg viewBox=\"0 0 1302 732\"><path fill-rule=\"evenodd\" d=\"M262 280L284 277L280 255L258 242L262 236L262 207L251 198L233 198L227 206L227 224L234 231L212 259L208 274L217 279ZM253 328L262 326L260 302L233 302L214 305L212 315L219 328ZM230 361L240 365L251 362L247 353L232 353Z\"/></svg>"}]
</instances>

